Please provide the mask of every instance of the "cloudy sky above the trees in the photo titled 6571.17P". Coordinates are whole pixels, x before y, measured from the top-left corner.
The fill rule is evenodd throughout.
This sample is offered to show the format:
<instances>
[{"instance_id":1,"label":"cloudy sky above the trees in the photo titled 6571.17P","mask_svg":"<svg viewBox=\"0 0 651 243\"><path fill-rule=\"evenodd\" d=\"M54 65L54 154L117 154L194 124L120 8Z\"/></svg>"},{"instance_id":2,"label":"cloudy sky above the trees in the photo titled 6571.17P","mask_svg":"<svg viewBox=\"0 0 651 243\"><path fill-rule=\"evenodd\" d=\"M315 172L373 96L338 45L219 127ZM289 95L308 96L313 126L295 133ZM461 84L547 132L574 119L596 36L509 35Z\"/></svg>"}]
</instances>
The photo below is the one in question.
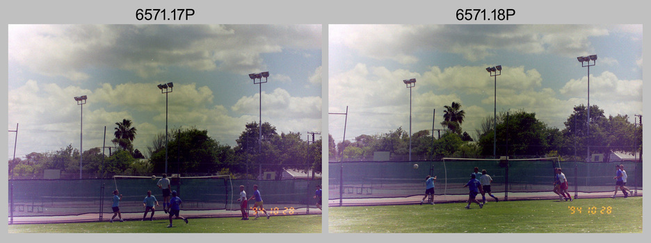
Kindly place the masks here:
<instances>
[{"instance_id":1,"label":"cloudy sky above the trees in the photo titled 6571.17P","mask_svg":"<svg viewBox=\"0 0 651 243\"><path fill-rule=\"evenodd\" d=\"M207 130L236 145L245 124L259 120L259 85L248 74L268 71L262 121L278 133L321 131L320 25L10 25L8 124L19 124L17 157L112 146L115 122L131 119L134 147L148 156L155 135ZM12 129L13 128L13 129ZM13 156L14 135L8 136ZM108 153L108 151L107 151Z\"/></svg>"}]
</instances>

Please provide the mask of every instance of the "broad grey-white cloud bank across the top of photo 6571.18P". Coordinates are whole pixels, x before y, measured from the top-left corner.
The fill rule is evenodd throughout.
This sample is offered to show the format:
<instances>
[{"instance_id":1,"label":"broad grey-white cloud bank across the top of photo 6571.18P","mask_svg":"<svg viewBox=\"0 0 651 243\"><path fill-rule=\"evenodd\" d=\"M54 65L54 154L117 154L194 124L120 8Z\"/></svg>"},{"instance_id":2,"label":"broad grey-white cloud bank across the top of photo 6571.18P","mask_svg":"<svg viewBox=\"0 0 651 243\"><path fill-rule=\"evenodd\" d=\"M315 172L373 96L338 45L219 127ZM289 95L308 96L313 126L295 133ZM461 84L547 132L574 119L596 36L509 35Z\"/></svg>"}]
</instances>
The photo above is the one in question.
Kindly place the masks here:
<instances>
[{"instance_id":1,"label":"broad grey-white cloud bank across the top of photo 6571.18P","mask_svg":"<svg viewBox=\"0 0 651 243\"><path fill-rule=\"evenodd\" d=\"M421 51L458 53L466 60L492 56L496 49L574 56L592 53L589 37L608 35L608 26L584 25L333 25L332 45L360 56L412 64ZM587 52L590 53L587 53Z\"/></svg>"}]
</instances>

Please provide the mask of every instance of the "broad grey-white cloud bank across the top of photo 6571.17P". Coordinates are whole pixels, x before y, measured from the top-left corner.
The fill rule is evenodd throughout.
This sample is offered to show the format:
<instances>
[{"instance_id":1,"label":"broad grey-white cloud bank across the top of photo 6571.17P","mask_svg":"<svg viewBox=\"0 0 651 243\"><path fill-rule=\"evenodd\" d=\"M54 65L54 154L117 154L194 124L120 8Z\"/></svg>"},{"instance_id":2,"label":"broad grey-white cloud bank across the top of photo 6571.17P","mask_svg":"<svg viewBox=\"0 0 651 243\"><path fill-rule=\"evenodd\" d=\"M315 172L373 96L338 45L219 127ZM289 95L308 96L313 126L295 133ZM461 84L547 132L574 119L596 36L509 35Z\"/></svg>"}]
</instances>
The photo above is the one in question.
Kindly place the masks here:
<instances>
[{"instance_id":1,"label":"broad grey-white cloud bank across the top of photo 6571.17P","mask_svg":"<svg viewBox=\"0 0 651 243\"><path fill-rule=\"evenodd\" d=\"M150 77L169 66L248 74L262 54L321 48L319 25L10 25L9 60L32 72L90 78L115 67Z\"/></svg>"}]
</instances>

